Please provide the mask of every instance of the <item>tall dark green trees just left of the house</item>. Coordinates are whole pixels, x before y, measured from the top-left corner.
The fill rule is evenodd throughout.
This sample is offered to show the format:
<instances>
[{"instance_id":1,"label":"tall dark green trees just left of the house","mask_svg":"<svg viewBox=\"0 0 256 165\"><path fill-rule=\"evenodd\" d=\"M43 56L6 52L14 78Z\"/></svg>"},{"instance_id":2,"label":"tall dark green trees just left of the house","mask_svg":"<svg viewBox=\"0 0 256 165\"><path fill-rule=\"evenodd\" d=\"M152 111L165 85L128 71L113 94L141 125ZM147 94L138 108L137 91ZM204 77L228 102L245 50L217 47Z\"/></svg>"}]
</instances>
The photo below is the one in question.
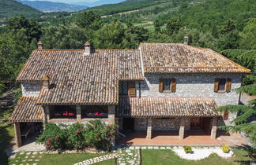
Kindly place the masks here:
<instances>
[{"instance_id":1,"label":"tall dark green trees just left of the house","mask_svg":"<svg viewBox=\"0 0 256 165\"><path fill-rule=\"evenodd\" d=\"M14 83L36 42L42 34L40 24L24 16L8 21L7 31L0 35L0 86ZM1 92L1 90L0 90ZM2 93L0 93L2 94Z\"/></svg>"}]
</instances>

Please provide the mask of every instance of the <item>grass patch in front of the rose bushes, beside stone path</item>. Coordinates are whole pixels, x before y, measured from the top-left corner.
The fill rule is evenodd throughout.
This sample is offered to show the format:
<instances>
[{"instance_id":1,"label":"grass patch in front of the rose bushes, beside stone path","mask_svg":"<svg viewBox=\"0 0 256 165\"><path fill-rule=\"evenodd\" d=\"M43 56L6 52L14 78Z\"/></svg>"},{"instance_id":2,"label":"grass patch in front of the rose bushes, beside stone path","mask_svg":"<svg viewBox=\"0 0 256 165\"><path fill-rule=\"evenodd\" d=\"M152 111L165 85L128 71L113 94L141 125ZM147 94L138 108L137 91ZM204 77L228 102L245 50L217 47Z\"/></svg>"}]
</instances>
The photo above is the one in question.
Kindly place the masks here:
<instances>
[{"instance_id":1,"label":"grass patch in front of the rose bushes, beside stone path","mask_svg":"<svg viewBox=\"0 0 256 165\"><path fill-rule=\"evenodd\" d=\"M103 156L104 154L89 154L89 153L81 153L81 154L44 154L39 161L39 165L51 164L51 165L71 165L73 163L78 163L84 161L85 159L91 159L98 156ZM96 164L106 164L113 165L115 163L114 159L108 159L106 161L96 163Z\"/></svg>"}]
</instances>

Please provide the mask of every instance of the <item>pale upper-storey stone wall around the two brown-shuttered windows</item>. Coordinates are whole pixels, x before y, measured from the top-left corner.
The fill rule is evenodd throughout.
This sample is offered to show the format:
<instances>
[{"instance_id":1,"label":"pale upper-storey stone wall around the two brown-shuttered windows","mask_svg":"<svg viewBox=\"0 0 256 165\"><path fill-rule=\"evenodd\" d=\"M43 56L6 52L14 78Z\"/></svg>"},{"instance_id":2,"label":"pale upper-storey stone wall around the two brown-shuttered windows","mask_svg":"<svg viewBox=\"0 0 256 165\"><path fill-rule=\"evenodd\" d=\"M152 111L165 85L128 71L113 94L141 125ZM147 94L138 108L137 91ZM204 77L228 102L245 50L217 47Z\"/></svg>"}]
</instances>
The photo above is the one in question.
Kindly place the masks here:
<instances>
[{"instance_id":1,"label":"pale upper-storey stone wall around the two brown-shuttered windows","mask_svg":"<svg viewBox=\"0 0 256 165\"><path fill-rule=\"evenodd\" d=\"M160 93L159 79L170 78L176 79L176 92ZM217 105L238 105L239 94L235 91L224 94L213 91L217 78L232 79L232 89L241 86L241 76L235 75L145 75L145 81L141 82L141 97L214 97Z\"/></svg>"}]
</instances>

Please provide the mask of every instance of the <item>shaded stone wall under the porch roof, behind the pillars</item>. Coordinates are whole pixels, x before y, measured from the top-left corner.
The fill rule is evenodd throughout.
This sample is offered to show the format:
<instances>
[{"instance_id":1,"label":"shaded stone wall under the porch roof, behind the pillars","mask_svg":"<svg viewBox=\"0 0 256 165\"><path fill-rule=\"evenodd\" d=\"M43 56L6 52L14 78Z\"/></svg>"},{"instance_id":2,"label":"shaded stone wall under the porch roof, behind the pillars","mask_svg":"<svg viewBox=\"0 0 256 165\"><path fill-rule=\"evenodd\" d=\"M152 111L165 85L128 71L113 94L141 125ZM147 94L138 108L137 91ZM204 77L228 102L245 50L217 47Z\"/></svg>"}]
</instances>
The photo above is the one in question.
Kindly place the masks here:
<instances>
[{"instance_id":1,"label":"shaded stone wall under the porch roof, behind the pillars","mask_svg":"<svg viewBox=\"0 0 256 165\"><path fill-rule=\"evenodd\" d=\"M190 119L185 119L185 130L190 130ZM179 130L180 118L152 119L152 130ZM134 130L147 130L146 118L134 119Z\"/></svg>"}]
</instances>

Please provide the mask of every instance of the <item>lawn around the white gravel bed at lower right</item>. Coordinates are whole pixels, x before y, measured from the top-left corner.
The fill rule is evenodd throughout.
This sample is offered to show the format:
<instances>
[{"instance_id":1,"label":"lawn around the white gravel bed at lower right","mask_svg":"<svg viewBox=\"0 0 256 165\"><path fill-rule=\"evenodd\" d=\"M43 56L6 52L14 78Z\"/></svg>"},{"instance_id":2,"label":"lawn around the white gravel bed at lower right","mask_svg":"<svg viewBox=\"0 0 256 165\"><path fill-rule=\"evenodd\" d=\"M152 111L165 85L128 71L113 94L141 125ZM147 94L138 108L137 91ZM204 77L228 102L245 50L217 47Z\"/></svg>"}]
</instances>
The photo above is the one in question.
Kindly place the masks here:
<instances>
[{"instance_id":1,"label":"lawn around the white gravel bed at lower right","mask_svg":"<svg viewBox=\"0 0 256 165\"><path fill-rule=\"evenodd\" d=\"M240 149L233 149L235 153L230 159L224 159L216 154L212 154L209 158L201 159L198 161L181 159L171 150L141 150L142 164L145 165L166 165L166 164L191 164L191 165L205 165L205 164L249 164L250 158L247 157L247 152Z\"/></svg>"}]
</instances>

